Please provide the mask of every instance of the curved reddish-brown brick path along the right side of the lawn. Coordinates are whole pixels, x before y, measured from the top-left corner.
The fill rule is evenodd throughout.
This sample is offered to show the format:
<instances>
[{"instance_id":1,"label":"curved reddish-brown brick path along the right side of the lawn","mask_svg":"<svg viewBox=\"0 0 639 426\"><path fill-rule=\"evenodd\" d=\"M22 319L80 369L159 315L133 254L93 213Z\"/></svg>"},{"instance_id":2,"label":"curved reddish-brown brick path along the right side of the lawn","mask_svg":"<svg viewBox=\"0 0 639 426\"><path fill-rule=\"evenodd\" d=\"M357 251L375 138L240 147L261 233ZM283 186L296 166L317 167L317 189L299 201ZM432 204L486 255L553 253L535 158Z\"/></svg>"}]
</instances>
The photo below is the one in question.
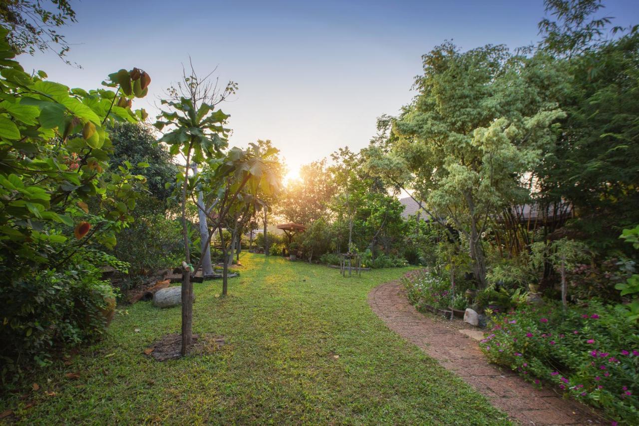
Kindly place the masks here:
<instances>
[{"instance_id":1,"label":"curved reddish-brown brick path along the right side of the lawn","mask_svg":"<svg viewBox=\"0 0 639 426\"><path fill-rule=\"evenodd\" d=\"M408 303L399 281L373 288L368 303L390 329L486 395L511 420L525 425L601 423L579 402L564 399L551 390L537 390L512 371L490 364L475 340L438 324Z\"/></svg>"}]
</instances>

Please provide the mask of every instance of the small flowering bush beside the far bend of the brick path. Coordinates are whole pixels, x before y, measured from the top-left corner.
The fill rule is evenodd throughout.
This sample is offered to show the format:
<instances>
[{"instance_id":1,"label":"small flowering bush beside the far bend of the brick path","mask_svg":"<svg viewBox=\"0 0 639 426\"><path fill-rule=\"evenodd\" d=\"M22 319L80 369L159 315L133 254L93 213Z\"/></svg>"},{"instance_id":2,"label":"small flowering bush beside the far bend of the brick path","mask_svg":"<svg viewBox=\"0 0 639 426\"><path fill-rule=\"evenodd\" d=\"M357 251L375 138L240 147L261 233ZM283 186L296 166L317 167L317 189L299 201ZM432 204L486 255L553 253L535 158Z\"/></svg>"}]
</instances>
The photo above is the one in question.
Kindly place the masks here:
<instances>
[{"instance_id":1,"label":"small flowering bush beside the far bend of the brick path","mask_svg":"<svg viewBox=\"0 0 639 426\"><path fill-rule=\"evenodd\" d=\"M424 308L424 305L440 309L450 306L450 283L427 269L408 272L401 281L408 293L408 300L418 309Z\"/></svg>"}]
</instances>

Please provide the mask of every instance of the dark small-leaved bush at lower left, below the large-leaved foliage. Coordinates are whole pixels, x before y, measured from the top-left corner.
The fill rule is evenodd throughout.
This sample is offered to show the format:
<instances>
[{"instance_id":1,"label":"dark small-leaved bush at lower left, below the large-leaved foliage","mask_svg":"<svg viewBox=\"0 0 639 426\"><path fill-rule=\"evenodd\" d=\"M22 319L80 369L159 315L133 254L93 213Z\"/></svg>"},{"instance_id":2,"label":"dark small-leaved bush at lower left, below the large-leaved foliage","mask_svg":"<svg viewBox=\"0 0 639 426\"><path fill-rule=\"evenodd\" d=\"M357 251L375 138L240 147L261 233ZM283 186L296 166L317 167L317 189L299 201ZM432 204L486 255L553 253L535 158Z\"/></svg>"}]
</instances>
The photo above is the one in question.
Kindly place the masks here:
<instances>
[{"instance_id":1,"label":"dark small-leaved bush at lower left, below the large-leaved foliage","mask_svg":"<svg viewBox=\"0 0 639 426\"><path fill-rule=\"evenodd\" d=\"M0 347L4 383L21 365L46 365L59 349L102 335L105 299L115 294L100 276L98 267L81 262L66 271L47 269L0 287L0 341L12 342Z\"/></svg>"}]
</instances>

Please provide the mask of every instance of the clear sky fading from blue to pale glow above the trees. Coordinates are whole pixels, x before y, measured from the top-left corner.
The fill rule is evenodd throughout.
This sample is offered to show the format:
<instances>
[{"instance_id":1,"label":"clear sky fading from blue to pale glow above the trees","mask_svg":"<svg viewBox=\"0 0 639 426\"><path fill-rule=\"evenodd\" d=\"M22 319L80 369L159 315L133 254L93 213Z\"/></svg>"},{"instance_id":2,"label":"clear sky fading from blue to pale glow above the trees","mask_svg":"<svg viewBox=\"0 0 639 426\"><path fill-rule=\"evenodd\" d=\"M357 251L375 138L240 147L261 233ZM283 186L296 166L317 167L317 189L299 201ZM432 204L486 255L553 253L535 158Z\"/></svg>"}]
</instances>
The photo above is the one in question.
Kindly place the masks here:
<instances>
[{"instance_id":1,"label":"clear sky fading from blue to pale glow above the trees","mask_svg":"<svg viewBox=\"0 0 639 426\"><path fill-rule=\"evenodd\" d=\"M189 1L71 0L77 23L59 31L67 57L23 55L26 70L52 81L98 88L120 68L151 76L135 100L155 117L158 99L189 57L198 74L217 67L239 90L220 105L231 114L231 146L271 139L295 177L302 164L341 146L364 148L376 118L396 114L414 93L421 56L444 40L461 49L511 48L539 40L542 0ZM638 0L604 1L616 25L639 23Z\"/></svg>"}]
</instances>

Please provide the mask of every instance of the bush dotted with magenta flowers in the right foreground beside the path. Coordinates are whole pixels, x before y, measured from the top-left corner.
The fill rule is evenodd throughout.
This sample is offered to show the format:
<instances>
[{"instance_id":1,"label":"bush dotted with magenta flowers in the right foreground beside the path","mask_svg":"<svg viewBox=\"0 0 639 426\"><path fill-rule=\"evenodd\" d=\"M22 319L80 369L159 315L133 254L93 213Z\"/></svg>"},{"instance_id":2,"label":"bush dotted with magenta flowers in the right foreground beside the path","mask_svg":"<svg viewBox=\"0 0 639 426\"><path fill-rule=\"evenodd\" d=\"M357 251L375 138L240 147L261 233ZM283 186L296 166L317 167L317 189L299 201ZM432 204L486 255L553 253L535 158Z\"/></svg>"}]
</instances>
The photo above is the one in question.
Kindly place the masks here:
<instances>
[{"instance_id":1,"label":"bush dotted with magenta flowers in the right foreground beside the path","mask_svg":"<svg viewBox=\"0 0 639 426\"><path fill-rule=\"evenodd\" d=\"M537 384L556 385L601 407L618 422L639 424L639 336L611 306L590 302L493 315L481 347L491 361Z\"/></svg>"}]
</instances>

